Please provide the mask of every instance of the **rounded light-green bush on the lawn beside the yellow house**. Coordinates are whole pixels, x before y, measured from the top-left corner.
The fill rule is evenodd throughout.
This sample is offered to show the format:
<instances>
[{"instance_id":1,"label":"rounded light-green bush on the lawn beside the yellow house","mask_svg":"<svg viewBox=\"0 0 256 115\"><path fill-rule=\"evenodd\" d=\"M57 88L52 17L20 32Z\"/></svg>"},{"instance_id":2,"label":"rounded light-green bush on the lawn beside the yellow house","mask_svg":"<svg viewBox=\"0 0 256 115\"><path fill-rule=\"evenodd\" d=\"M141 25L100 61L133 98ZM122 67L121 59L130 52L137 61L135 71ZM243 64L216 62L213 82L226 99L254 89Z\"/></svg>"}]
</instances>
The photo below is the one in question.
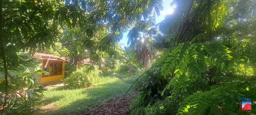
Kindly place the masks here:
<instances>
[{"instance_id":1,"label":"rounded light-green bush on the lawn beside the yellow house","mask_svg":"<svg viewBox=\"0 0 256 115\"><path fill-rule=\"evenodd\" d=\"M72 88L85 88L91 86L93 78L100 75L101 71L98 66L84 65L64 79L64 83Z\"/></svg>"}]
</instances>

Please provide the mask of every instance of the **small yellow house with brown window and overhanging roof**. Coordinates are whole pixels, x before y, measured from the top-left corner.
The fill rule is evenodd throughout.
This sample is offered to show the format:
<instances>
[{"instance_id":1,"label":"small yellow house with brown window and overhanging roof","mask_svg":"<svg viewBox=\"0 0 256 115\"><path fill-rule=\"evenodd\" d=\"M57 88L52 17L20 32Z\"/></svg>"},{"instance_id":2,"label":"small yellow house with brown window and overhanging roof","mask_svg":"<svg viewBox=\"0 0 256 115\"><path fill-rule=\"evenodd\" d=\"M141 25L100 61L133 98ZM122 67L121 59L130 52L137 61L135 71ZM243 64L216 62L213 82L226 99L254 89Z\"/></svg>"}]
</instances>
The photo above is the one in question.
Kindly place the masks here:
<instances>
[{"instance_id":1,"label":"small yellow house with brown window and overhanging roof","mask_svg":"<svg viewBox=\"0 0 256 115\"><path fill-rule=\"evenodd\" d=\"M49 73L48 75L35 75L40 84L64 79L64 66L66 62L64 58L41 53L35 53L34 58L42 62L42 70Z\"/></svg>"}]
</instances>

